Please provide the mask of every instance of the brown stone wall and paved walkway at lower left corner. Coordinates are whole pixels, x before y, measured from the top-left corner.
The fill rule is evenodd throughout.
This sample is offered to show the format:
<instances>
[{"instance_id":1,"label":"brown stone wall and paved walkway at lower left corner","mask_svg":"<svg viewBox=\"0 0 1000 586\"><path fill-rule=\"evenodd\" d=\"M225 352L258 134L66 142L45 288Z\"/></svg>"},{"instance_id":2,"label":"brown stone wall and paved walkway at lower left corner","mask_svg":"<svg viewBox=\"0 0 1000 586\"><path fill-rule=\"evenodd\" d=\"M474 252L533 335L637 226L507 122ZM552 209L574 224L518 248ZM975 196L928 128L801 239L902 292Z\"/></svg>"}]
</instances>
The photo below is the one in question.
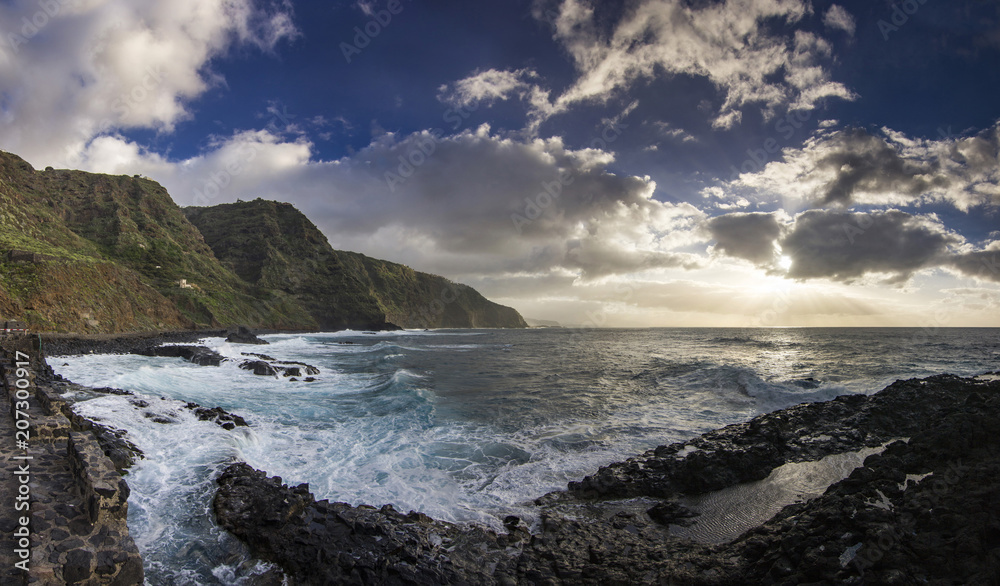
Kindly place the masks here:
<instances>
[{"instance_id":1,"label":"brown stone wall and paved walkway at lower left corner","mask_svg":"<svg viewBox=\"0 0 1000 586\"><path fill-rule=\"evenodd\" d=\"M142 558L127 525L130 490L109 457L106 430L60 397L39 342L0 343L7 407L0 427L10 442L0 467L11 497L0 512L0 576L4 584L141 584Z\"/></svg>"}]
</instances>

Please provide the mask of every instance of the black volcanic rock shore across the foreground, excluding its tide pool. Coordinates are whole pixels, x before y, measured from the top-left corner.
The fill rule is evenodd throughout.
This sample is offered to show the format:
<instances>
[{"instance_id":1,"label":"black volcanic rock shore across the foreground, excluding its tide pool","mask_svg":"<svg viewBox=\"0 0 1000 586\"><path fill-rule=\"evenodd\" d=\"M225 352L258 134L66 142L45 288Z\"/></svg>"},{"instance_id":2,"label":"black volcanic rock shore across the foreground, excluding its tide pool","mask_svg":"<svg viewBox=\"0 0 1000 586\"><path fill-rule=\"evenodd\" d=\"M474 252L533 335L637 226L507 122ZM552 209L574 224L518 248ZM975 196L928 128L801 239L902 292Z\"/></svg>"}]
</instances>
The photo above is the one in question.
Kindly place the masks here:
<instances>
[{"instance_id":1,"label":"black volcanic rock shore across the foreground, excluding its tide pool","mask_svg":"<svg viewBox=\"0 0 1000 586\"><path fill-rule=\"evenodd\" d=\"M661 446L540 498L532 532L516 517L498 533L317 502L307 485L245 464L218 479L214 508L293 584L998 584L996 378L898 381ZM886 443L822 496L729 543L670 534L697 522L681 497Z\"/></svg>"}]
</instances>

